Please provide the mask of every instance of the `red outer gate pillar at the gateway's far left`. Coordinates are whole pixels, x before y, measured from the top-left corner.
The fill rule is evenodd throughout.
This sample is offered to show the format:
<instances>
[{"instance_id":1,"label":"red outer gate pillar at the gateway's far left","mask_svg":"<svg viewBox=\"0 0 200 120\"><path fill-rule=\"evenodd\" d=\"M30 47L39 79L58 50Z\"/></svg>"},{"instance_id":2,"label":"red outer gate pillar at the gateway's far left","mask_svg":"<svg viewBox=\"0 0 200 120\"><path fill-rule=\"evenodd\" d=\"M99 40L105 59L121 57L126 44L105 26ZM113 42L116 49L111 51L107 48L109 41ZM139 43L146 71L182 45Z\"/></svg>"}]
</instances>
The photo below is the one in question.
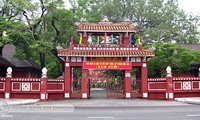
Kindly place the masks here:
<instances>
[{"instance_id":1,"label":"red outer gate pillar at the gateway's far left","mask_svg":"<svg viewBox=\"0 0 200 120\"><path fill-rule=\"evenodd\" d=\"M71 95L71 70L70 70L70 63L65 63L65 98L70 98Z\"/></svg>"}]
</instances>

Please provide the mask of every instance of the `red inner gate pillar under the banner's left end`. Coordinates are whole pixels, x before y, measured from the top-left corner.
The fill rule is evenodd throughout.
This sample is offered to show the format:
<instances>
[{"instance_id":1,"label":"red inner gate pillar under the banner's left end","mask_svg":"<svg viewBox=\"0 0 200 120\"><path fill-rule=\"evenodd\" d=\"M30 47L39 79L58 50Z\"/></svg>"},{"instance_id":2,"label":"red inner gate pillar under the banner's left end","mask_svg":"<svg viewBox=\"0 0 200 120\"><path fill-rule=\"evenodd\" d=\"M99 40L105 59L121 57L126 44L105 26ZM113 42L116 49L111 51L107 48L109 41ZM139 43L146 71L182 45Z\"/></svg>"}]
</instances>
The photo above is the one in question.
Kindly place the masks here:
<instances>
[{"instance_id":1,"label":"red inner gate pillar under the banner's left end","mask_svg":"<svg viewBox=\"0 0 200 120\"><path fill-rule=\"evenodd\" d=\"M82 80L81 80L81 93L82 98L87 99L89 98L89 90L88 90L88 75L87 70L82 70Z\"/></svg>"}]
</instances>

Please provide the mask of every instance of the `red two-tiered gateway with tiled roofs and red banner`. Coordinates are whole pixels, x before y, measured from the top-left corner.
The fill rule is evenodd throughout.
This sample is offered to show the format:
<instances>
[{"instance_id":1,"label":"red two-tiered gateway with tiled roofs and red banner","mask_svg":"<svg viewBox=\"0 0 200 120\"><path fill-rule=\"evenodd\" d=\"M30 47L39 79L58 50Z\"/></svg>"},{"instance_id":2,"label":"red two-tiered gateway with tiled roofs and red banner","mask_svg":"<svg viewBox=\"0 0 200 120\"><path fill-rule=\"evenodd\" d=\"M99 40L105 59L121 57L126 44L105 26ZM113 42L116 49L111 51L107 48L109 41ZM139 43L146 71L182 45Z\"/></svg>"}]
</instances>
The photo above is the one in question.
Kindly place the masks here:
<instances>
[{"instance_id":1,"label":"red two-tiered gateway with tiled roofs and red banner","mask_svg":"<svg viewBox=\"0 0 200 120\"><path fill-rule=\"evenodd\" d=\"M82 67L82 78L79 98L90 98L90 79L88 70L123 70L124 76L122 95L124 98L147 98L147 59L154 56L154 51L145 50L142 44L133 45L130 37L136 32L130 23L88 23L77 25L77 32L82 36L82 44L71 44L70 48L58 50L58 56L65 61L65 98L73 98L71 89L73 67ZM119 39L118 44L89 45L89 36L114 36ZM139 76L136 81L131 78L131 69L137 68ZM137 83L137 89L133 82Z\"/></svg>"}]
</instances>

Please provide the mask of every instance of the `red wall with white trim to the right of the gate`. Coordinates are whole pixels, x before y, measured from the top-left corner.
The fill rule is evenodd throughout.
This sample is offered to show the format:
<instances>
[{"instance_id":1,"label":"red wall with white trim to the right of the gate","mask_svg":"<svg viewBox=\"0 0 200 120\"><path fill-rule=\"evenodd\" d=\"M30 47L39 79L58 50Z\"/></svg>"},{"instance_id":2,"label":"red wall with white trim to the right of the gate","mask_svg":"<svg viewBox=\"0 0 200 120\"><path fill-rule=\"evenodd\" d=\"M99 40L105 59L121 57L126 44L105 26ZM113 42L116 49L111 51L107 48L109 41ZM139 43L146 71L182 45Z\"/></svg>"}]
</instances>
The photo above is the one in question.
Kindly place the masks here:
<instances>
[{"instance_id":1,"label":"red wall with white trim to the right of the gate","mask_svg":"<svg viewBox=\"0 0 200 120\"><path fill-rule=\"evenodd\" d=\"M173 77L168 67L165 78L148 78L148 98L180 97L200 97L200 77Z\"/></svg>"}]
</instances>

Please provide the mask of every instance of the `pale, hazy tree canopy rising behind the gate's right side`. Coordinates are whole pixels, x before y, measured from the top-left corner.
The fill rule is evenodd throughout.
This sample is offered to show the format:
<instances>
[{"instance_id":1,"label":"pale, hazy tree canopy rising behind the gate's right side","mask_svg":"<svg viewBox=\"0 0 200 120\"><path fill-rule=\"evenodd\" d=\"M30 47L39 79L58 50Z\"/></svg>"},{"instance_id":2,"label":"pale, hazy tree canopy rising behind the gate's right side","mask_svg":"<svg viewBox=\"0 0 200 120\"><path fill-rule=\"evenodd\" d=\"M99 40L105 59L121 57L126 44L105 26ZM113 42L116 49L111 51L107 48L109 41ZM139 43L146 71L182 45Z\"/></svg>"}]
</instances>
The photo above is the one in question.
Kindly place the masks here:
<instances>
[{"instance_id":1,"label":"pale, hazy tree canopy rising behind the gate's right side","mask_svg":"<svg viewBox=\"0 0 200 120\"><path fill-rule=\"evenodd\" d=\"M185 14L177 0L96 0L96 3L99 13L110 21L135 24L144 44L199 43L199 16Z\"/></svg>"}]
</instances>

